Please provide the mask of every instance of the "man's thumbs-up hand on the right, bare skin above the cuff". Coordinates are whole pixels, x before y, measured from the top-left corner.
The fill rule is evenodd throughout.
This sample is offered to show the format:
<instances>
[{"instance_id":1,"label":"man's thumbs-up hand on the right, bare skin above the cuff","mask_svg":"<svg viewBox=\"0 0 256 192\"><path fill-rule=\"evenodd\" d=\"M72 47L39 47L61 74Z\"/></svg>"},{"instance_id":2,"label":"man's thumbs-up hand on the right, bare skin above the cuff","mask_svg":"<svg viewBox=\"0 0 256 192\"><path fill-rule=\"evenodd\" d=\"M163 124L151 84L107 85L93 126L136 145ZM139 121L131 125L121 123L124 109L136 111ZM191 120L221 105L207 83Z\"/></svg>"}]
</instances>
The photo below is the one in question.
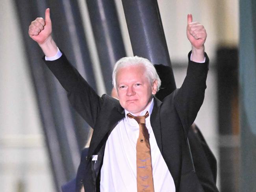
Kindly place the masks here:
<instances>
[{"instance_id":1,"label":"man's thumbs-up hand on the right, bare skin above the cuff","mask_svg":"<svg viewBox=\"0 0 256 192\"><path fill-rule=\"evenodd\" d=\"M207 33L204 26L198 22L192 22L192 15L187 15L187 39L191 42L193 48L204 50L204 42Z\"/></svg>"}]
</instances>

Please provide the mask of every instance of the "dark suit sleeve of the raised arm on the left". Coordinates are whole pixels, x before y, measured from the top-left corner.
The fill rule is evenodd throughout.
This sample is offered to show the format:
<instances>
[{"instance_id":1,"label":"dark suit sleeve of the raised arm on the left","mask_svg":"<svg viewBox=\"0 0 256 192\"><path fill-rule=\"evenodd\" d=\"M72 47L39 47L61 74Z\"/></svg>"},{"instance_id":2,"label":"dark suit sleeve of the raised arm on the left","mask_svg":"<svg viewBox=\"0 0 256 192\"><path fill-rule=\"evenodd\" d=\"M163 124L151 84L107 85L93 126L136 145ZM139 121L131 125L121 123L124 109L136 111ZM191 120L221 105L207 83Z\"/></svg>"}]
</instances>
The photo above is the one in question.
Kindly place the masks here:
<instances>
[{"instance_id":1,"label":"dark suit sleeve of the raised arm on the left","mask_svg":"<svg viewBox=\"0 0 256 192\"><path fill-rule=\"evenodd\" d=\"M45 61L44 57L43 60ZM63 54L55 61L45 61L48 68L67 91L68 98L76 111L85 119L89 126L94 127L102 105L95 90L74 68Z\"/></svg>"}]
</instances>

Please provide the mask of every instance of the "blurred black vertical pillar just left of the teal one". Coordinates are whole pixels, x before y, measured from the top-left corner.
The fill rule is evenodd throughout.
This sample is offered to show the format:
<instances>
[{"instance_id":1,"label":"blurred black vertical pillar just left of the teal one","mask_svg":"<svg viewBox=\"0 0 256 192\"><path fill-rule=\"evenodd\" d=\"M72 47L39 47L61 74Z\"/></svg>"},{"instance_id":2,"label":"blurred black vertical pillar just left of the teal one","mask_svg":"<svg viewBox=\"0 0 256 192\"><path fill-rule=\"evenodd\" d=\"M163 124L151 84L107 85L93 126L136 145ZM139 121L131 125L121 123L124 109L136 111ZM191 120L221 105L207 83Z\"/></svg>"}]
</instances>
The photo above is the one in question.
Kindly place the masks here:
<instances>
[{"instance_id":1,"label":"blurred black vertical pillar just left of the teal one","mask_svg":"<svg viewBox=\"0 0 256 192\"><path fill-rule=\"evenodd\" d=\"M217 50L219 167L221 191L238 192L239 109L237 48Z\"/></svg>"}]
</instances>

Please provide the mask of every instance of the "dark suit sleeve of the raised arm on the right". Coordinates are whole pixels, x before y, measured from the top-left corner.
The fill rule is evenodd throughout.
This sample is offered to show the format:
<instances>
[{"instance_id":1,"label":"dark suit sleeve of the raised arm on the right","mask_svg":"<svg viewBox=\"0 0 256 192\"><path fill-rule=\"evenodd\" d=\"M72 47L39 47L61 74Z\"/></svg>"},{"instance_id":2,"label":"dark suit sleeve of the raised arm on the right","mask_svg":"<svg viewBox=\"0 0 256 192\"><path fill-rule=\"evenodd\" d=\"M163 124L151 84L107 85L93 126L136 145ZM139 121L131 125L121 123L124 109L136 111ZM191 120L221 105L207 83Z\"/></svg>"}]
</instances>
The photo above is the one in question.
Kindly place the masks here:
<instances>
[{"instance_id":1,"label":"dark suit sleeve of the raised arm on the right","mask_svg":"<svg viewBox=\"0 0 256 192\"><path fill-rule=\"evenodd\" d=\"M174 105L186 135L204 101L206 78L209 68L209 58L206 53L205 63L191 61L190 55L191 52L188 54L189 63L186 78L180 89L178 89L174 99Z\"/></svg>"}]
</instances>

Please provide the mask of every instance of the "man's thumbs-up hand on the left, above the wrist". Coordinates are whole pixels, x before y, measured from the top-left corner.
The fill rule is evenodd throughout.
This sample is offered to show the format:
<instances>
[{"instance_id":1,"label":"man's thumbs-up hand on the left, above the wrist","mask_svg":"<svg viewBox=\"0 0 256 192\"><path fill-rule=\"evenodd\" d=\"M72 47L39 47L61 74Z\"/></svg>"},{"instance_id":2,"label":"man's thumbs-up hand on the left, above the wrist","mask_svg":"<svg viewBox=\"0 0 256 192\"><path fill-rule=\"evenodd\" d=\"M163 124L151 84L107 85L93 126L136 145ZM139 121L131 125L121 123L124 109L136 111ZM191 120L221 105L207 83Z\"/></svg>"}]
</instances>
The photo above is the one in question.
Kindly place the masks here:
<instances>
[{"instance_id":1,"label":"man's thumbs-up hand on the left, above the wrist","mask_svg":"<svg viewBox=\"0 0 256 192\"><path fill-rule=\"evenodd\" d=\"M51 39L52 22L50 19L50 9L45 10L45 19L37 17L29 26L28 34L39 45Z\"/></svg>"}]
</instances>

